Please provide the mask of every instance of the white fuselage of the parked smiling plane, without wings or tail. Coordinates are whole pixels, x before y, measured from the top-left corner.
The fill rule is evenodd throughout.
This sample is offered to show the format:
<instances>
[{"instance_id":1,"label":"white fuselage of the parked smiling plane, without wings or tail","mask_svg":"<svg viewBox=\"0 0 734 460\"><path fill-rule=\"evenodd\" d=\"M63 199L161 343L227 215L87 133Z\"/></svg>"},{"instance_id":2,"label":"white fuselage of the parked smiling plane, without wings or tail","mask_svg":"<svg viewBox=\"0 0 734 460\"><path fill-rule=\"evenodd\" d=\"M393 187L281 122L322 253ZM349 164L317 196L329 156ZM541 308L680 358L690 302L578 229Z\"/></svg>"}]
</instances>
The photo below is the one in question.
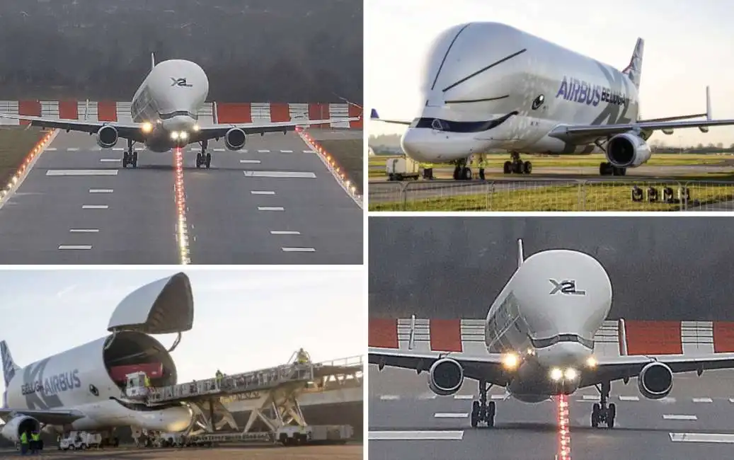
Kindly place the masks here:
<instances>
[{"instance_id":1,"label":"white fuselage of the parked smiling plane, without wings or tail","mask_svg":"<svg viewBox=\"0 0 734 460\"><path fill-rule=\"evenodd\" d=\"M421 93L420 118L428 126L417 127L420 118L415 119L401 146L411 158L426 162L457 161L490 150L601 151L595 145L567 145L548 134L559 125L634 122L639 114L637 88L619 70L501 23L462 24L440 34L426 58ZM534 109L541 95L544 102ZM624 103L609 102L619 96ZM449 132L431 123L478 125L511 112L518 114L484 131Z\"/></svg>"}]
</instances>

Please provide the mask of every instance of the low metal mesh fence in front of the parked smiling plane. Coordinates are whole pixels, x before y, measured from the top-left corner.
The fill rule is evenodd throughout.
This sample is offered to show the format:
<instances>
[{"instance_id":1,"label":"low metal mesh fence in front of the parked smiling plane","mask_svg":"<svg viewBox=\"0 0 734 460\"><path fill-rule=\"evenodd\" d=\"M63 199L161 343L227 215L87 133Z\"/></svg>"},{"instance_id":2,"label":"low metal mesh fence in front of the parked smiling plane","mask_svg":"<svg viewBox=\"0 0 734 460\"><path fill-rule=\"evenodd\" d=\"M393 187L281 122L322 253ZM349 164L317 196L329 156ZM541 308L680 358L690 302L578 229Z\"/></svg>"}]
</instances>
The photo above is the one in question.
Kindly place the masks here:
<instances>
[{"instance_id":1,"label":"low metal mesh fence in front of the parked smiling plane","mask_svg":"<svg viewBox=\"0 0 734 460\"><path fill-rule=\"evenodd\" d=\"M369 211L734 211L734 181L371 181Z\"/></svg>"}]
</instances>

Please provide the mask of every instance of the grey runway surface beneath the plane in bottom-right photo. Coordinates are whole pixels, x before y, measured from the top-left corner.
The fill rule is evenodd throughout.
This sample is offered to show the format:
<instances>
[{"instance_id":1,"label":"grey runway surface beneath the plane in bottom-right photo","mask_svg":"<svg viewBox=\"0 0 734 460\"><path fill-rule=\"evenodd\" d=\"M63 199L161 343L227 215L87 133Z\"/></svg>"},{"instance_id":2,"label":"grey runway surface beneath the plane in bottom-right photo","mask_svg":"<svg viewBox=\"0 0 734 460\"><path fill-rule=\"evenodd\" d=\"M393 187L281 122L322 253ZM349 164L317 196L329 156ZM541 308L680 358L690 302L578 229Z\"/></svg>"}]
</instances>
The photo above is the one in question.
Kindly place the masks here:
<instances>
[{"instance_id":1,"label":"grey runway surface beneath the plane in bottom-right photo","mask_svg":"<svg viewBox=\"0 0 734 460\"><path fill-rule=\"evenodd\" d=\"M590 427L595 389L569 397L572 459L724 458L734 438L734 371L675 376L668 398L653 401L639 395L636 380L612 384L617 405L615 427ZM504 399L503 389L490 392L497 404L495 428L470 428L468 415L476 384L465 381L454 396L437 397L426 387L426 375L407 370L377 371L370 366L370 459L553 459L557 451L556 404L523 404ZM728 442L680 442L681 434L719 434ZM671 436L672 434L672 436ZM731 434L730 438L721 436ZM386 437L423 437L421 440ZM383 440L375 440L382 438ZM431 439L433 438L433 439ZM443 439L436 439L443 438Z\"/></svg>"}]
</instances>

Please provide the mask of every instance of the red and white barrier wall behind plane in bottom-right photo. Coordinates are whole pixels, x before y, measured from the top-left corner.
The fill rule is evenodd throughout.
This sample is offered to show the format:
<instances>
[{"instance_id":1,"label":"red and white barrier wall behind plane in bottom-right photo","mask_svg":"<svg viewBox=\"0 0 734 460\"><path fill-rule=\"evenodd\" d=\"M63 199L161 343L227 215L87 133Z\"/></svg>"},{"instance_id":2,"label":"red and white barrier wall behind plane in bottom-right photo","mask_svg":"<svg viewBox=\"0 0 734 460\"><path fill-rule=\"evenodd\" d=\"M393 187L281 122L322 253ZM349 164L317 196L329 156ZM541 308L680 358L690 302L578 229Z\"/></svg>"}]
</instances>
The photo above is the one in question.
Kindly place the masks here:
<instances>
[{"instance_id":1,"label":"red and white barrier wall behind plane in bottom-right photo","mask_svg":"<svg viewBox=\"0 0 734 460\"><path fill-rule=\"evenodd\" d=\"M370 318L369 346L487 354L484 319ZM594 337L599 356L734 352L730 321L604 321Z\"/></svg>"}]
</instances>

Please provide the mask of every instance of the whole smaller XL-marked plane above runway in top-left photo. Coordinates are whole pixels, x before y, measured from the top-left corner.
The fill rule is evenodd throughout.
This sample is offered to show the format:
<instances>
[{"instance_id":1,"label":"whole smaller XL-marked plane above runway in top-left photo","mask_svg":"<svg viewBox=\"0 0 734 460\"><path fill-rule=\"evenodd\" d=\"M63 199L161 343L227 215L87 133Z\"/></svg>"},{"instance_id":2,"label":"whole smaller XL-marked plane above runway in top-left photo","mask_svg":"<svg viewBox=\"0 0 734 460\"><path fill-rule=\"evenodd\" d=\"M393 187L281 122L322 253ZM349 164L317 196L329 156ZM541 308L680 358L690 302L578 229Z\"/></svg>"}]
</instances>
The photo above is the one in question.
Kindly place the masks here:
<instances>
[{"instance_id":1,"label":"whole smaller XL-marked plane above runway in top-left photo","mask_svg":"<svg viewBox=\"0 0 734 460\"><path fill-rule=\"evenodd\" d=\"M150 66L150 73L133 96L130 109L132 123L50 120L13 114L0 114L0 117L26 120L42 128L97 134L97 145L102 148L115 147L117 139L127 139L123 168L128 165L137 168L138 154L133 150L136 142L156 153L197 142L201 151L196 156L196 167L204 166L206 169L211 167L211 153L207 151L209 139L224 138L229 150L239 150L251 134L285 134L297 126L359 120L342 118L201 126L198 123L199 112L209 92L209 81L204 70L194 62L183 59L170 59L156 65L154 54L150 55Z\"/></svg>"}]
</instances>

